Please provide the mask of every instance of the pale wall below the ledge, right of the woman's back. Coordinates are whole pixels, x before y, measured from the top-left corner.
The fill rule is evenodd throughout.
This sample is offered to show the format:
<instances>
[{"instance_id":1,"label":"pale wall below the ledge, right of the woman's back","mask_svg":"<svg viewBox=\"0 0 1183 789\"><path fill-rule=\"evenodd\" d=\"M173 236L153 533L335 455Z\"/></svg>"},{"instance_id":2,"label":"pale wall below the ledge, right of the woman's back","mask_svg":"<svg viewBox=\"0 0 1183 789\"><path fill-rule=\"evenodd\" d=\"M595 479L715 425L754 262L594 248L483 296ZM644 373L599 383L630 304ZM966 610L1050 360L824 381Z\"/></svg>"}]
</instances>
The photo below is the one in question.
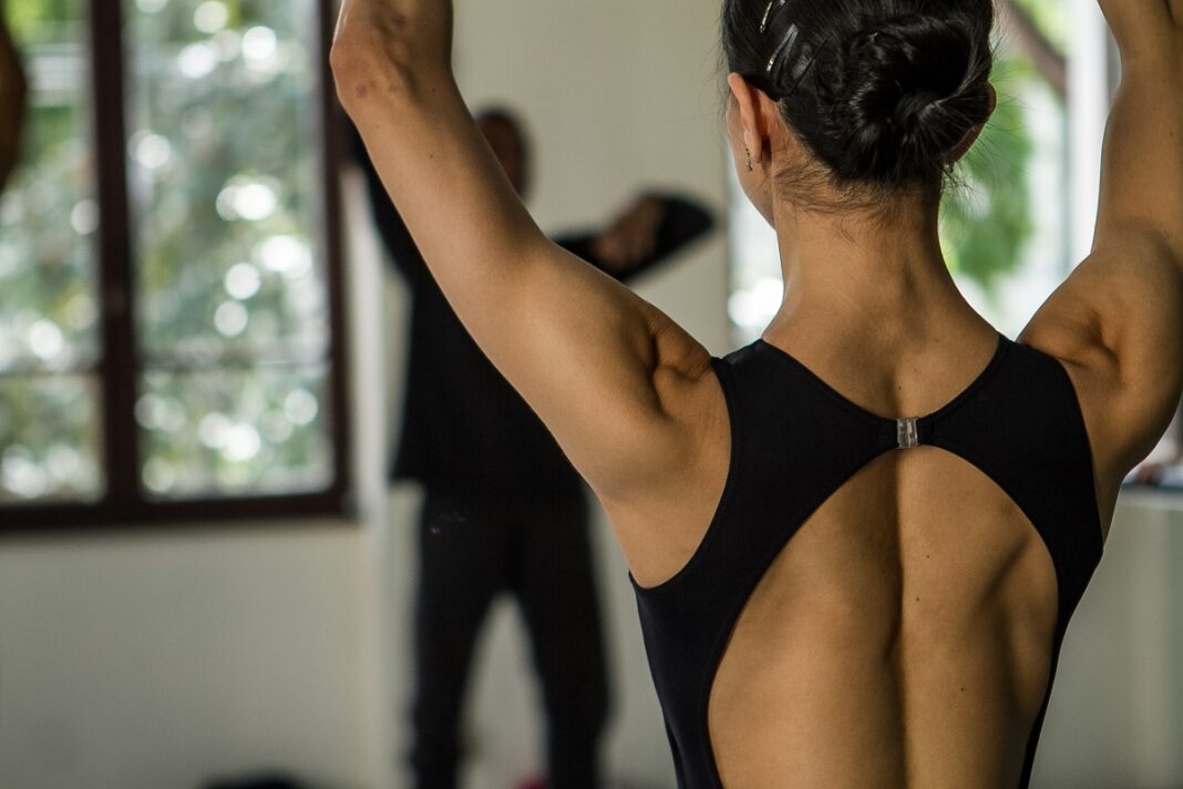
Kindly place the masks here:
<instances>
[{"instance_id":1,"label":"pale wall below the ledge, right of the woman's back","mask_svg":"<svg viewBox=\"0 0 1183 789\"><path fill-rule=\"evenodd\" d=\"M1183 502L1126 494L1068 627L1035 789L1183 787Z\"/></svg>"}]
</instances>

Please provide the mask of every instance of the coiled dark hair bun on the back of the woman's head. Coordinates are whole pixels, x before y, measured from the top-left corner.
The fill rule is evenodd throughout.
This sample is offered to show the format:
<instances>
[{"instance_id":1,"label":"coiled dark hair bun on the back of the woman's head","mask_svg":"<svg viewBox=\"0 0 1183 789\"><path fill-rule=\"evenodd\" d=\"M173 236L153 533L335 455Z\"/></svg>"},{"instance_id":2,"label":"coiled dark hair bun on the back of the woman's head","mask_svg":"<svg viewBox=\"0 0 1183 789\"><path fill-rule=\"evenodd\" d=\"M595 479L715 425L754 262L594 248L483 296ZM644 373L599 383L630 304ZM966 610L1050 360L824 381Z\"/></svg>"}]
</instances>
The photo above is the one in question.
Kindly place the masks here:
<instances>
[{"instance_id":1,"label":"coiled dark hair bun on the back of the woman's head","mask_svg":"<svg viewBox=\"0 0 1183 789\"><path fill-rule=\"evenodd\" d=\"M988 111L987 75L974 67L974 50L961 26L920 14L849 39L835 64L846 90L830 104L834 125L847 131L835 169L888 181L939 172Z\"/></svg>"}]
</instances>

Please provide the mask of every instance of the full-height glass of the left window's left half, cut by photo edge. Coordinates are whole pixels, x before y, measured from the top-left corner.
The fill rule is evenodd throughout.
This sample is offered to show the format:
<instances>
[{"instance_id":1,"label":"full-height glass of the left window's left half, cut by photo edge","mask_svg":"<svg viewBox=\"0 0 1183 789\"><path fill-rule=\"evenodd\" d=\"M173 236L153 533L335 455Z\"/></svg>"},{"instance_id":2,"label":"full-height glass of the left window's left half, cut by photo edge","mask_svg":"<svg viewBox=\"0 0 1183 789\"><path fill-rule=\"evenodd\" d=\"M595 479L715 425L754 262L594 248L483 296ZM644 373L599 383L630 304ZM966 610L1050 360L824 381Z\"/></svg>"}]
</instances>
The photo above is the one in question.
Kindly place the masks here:
<instances>
[{"instance_id":1,"label":"full-height glass of the left window's left half, cut by photo edge","mask_svg":"<svg viewBox=\"0 0 1183 789\"><path fill-rule=\"evenodd\" d=\"M82 0L8 0L30 84L0 196L0 502L102 494L91 88Z\"/></svg>"}]
</instances>

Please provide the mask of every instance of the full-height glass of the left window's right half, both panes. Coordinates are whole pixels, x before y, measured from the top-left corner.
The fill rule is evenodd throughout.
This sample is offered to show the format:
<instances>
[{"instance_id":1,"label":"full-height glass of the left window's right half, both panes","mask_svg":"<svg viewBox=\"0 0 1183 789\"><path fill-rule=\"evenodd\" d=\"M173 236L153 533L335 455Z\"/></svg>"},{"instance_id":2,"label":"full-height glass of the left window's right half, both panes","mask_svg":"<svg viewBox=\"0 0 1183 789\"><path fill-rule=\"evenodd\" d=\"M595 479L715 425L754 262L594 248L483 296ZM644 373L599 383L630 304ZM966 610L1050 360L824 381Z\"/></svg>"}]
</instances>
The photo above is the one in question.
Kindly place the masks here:
<instances>
[{"instance_id":1,"label":"full-height glass of the left window's right half, both panes","mask_svg":"<svg viewBox=\"0 0 1183 789\"><path fill-rule=\"evenodd\" d=\"M323 490L317 4L124 8L143 486L163 498Z\"/></svg>"}]
</instances>

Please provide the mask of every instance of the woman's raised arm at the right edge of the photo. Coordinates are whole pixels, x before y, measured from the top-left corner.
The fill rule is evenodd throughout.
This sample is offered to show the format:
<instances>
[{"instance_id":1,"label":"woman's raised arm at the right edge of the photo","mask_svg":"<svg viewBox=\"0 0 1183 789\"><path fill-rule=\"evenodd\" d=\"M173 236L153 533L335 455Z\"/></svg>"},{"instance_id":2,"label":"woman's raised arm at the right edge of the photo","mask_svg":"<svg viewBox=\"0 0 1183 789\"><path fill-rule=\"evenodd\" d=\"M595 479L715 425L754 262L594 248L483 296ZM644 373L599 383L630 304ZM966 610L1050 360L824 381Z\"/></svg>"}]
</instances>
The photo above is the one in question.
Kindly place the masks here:
<instances>
[{"instance_id":1,"label":"woman's raised arm at the right edge of the photo","mask_svg":"<svg viewBox=\"0 0 1183 789\"><path fill-rule=\"evenodd\" d=\"M1106 481L1153 448L1183 389L1183 0L1100 6L1123 78L1105 135L1093 252L1023 338L1074 366L1086 384Z\"/></svg>"}]
</instances>

